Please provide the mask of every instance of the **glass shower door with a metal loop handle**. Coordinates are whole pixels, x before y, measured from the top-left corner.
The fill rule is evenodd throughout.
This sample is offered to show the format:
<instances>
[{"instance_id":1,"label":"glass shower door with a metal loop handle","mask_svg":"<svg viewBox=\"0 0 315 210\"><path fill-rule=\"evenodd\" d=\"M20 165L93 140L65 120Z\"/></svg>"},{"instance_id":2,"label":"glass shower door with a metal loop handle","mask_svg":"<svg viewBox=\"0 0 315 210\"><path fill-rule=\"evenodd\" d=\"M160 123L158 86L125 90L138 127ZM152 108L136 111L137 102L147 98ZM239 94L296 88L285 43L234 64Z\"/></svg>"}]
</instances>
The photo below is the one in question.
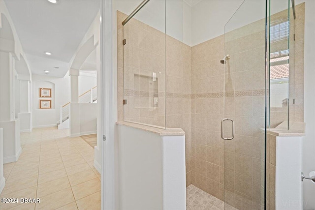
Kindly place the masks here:
<instances>
[{"instance_id":1,"label":"glass shower door with a metal loop handle","mask_svg":"<svg viewBox=\"0 0 315 210\"><path fill-rule=\"evenodd\" d=\"M266 2L245 0L224 29L225 209L263 210Z\"/></svg>"}]
</instances>

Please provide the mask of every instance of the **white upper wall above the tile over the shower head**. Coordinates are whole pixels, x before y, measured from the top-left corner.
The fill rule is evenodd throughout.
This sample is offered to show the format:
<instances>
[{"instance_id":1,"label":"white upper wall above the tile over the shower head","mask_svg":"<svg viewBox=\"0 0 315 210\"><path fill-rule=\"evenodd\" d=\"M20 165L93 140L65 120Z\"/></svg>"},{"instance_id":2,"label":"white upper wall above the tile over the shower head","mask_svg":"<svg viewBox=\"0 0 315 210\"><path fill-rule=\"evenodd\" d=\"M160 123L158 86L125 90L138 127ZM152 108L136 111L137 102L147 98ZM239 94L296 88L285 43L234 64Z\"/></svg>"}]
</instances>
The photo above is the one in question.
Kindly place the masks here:
<instances>
[{"instance_id":1,"label":"white upper wall above the tile over the shower head","mask_svg":"<svg viewBox=\"0 0 315 210\"><path fill-rule=\"evenodd\" d=\"M271 13L287 8L288 1L272 0ZM202 0L192 7L192 46L265 18L265 0Z\"/></svg>"}]
</instances>

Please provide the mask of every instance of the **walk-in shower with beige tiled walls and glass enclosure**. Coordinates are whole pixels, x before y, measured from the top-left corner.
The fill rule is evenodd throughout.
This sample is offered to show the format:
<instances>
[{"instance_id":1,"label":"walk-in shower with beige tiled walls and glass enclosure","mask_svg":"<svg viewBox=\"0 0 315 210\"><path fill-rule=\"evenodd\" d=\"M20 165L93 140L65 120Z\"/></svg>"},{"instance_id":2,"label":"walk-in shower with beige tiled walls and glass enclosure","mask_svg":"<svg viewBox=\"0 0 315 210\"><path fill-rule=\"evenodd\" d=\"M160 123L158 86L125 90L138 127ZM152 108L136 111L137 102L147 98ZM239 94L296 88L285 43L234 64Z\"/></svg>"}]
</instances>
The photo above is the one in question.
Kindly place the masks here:
<instances>
[{"instance_id":1,"label":"walk-in shower with beige tiled walls and glass enclosure","mask_svg":"<svg viewBox=\"0 0 315 210\"><path fill-rule=\"evenodd\" d=\"M192 8L210 11L211 3ZM294 116L288 112L294 110L290 3L245 0L216 37L206 20L199 28L185 25L183 1L144 0L129 16L117 13L119 119L182 128L186 185L219 199L218 208L275 205L266 130ZM209 11L200 9L198 17ZM187 29L199 30L192 41ZM195 206L195 187L188 188L188 210L208 205Z\"/></svg>"}]
</instances>

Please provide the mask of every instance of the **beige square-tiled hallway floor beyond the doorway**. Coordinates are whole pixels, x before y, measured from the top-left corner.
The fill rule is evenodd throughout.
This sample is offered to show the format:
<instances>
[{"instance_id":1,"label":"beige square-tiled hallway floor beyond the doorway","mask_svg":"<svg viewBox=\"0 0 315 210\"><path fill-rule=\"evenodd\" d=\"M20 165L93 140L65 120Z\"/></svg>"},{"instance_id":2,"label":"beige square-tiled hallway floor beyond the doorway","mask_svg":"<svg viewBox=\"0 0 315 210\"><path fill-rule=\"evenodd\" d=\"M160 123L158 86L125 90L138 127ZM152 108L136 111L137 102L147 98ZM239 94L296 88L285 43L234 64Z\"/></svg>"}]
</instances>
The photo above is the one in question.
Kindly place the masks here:
<instances>
[{"instance_id":1,"label":"beige square-tiled hallway floor beyond the doorway","mask_svg":"<svg viewBox=\"0 0 315 210\"><path fill-rule=\"evenodd\" d=\"M100 210L100 174L94 149L68 130L21 133L22 153L4 164L1 198L40 198L39 204L2 204L1 210Z\"/></svg>"}]
</instances>

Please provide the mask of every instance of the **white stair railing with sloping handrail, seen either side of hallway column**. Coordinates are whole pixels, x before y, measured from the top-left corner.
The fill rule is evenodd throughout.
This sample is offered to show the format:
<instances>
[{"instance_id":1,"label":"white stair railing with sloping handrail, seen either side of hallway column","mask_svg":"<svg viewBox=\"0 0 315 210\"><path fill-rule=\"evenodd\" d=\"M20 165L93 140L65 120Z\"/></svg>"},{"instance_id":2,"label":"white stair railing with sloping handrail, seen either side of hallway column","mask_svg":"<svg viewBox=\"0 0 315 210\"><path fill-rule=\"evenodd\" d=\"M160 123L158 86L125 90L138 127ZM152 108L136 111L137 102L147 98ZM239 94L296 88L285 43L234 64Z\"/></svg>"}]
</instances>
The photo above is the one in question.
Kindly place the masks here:
<instances>
[{"instance_id":1,"label":"white stair railing with sloping handrail, seen either side of hallway column","mask_svg":"<svg viewBox=\"0 0 315 210\"><path fill-rule=\"evenodd\" d=\"M96 86L79 96L79 103L93 103L97 99L97 88ZM69 107L70 102L60 106L60 121L59 123L63 123L65 120L69 118Z\"/></svg>"}]
</instances>

